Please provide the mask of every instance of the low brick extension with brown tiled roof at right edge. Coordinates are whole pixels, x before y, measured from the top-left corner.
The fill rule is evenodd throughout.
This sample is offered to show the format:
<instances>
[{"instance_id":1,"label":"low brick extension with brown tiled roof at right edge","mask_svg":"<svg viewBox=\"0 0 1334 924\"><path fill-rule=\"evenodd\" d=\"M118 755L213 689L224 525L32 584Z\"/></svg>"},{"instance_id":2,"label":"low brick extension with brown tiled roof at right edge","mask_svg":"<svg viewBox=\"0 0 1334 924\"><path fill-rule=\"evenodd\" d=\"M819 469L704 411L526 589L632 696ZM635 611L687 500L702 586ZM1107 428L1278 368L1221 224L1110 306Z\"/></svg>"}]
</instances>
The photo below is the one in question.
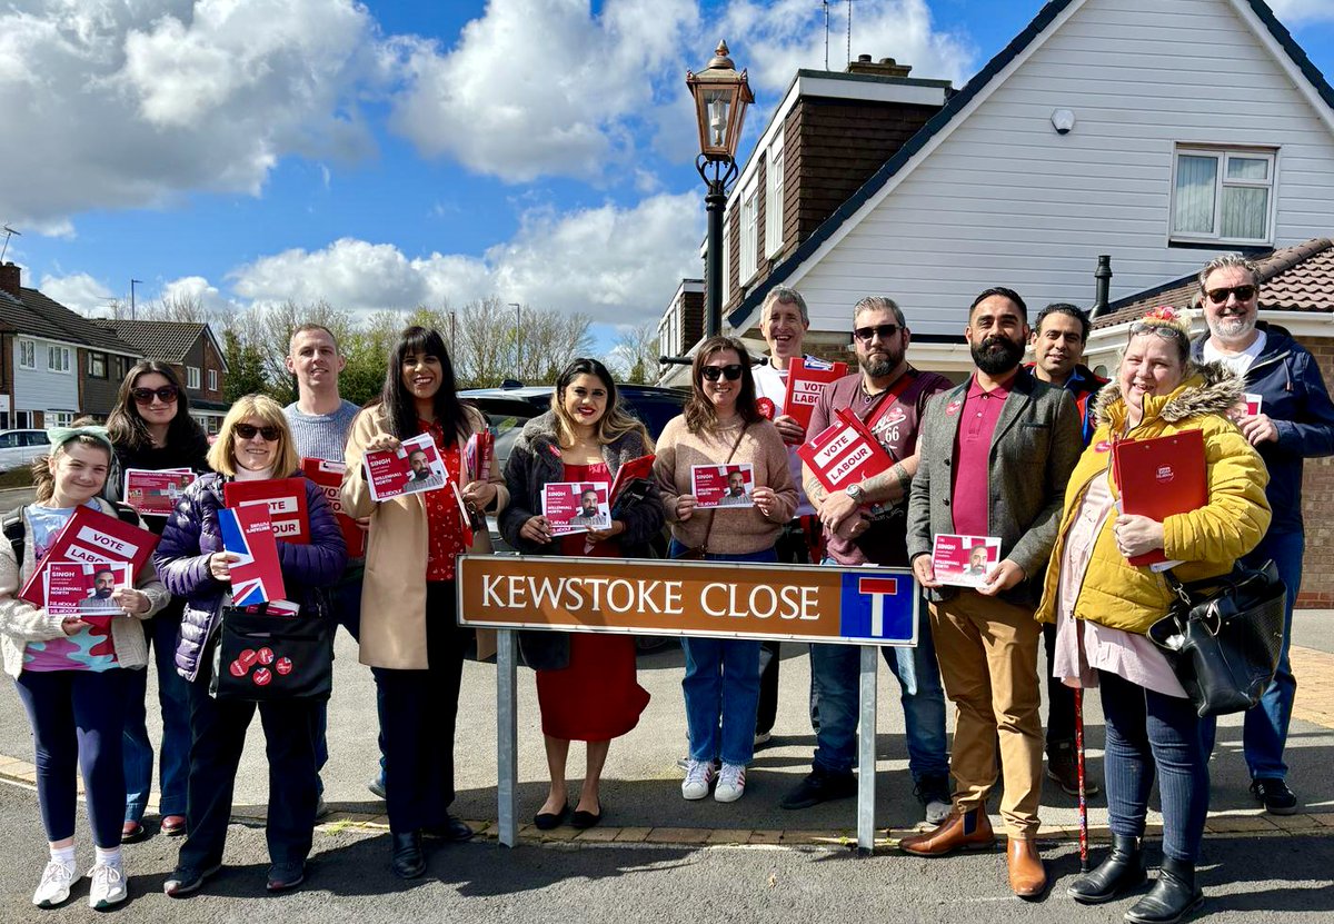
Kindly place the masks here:
<instances>
[{"instance_id":1,"label":"low brick extension with brown tiled roof at right edge","mask_svg":"<svg viewBox=\"0 0 1334 924\"><path fill-rule=\"evenodd\" d=\"M1334 389L1334 240L1315 238L1251 259L1261 275L1261 320L1282 327L1310 350L1325 385ZM1094 322L1086 351L1089 365L1114 370L1130 322L1159 304L1194 311L1191 326L1205 332L1198 298L1193 272L1113 302L1109 312ZM1306 563L1297 605L1330 609L1334 608L1334 457L1306 461L1302 515Z\"/></svg>"}]
</instances>

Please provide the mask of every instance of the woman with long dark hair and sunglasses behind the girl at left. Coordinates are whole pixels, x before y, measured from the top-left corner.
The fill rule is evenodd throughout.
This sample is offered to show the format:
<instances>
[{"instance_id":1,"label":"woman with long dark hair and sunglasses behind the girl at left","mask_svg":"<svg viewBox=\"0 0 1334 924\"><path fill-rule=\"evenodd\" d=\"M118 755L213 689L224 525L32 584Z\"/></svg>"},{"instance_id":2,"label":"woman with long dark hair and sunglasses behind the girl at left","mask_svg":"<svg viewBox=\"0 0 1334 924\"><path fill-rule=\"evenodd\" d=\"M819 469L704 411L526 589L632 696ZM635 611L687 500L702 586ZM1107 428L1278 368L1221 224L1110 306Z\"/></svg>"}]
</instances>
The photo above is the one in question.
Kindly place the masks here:
<instances>
[{"instance_id":1,"label":"woman with long dark hair and sunglasses behind the girl at left","mask_svg":"<svg viewBox=\"0 0 1334 924\"><path fill-rule=\"evenodd\" d=\"M175 370L156 359L135 365L120 383L116 406L107 418L116 455L103 495L121 501L129 469L189 469L208 471L208 438L189 415L189 397ZM148 529L161 534L167 518L148 515ZM185 833L185 778L189 772L189 690L176 673L176 633L185 601L172 602L144 621L144 636L157 676L163 738L157 757L161 796L157 800L159 829L168 837ZM144 698L148 672L131 674L129 709L125 714L125 823L121 841L133 844L148 836L144 809L153 788L153 742L148 736Z\"/></svg>"}]
</instances>

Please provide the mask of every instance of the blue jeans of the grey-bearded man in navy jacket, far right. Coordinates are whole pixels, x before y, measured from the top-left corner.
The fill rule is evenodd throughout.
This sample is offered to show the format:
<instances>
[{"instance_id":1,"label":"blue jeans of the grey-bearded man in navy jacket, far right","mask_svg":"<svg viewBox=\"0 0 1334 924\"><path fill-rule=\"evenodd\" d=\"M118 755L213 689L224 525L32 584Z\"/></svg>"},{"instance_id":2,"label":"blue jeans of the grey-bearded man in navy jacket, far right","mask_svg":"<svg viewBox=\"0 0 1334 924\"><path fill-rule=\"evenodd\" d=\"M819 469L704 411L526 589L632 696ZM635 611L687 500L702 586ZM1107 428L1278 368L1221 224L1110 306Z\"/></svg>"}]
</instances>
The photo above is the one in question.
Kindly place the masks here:
<instances>
[{"instance_id":1,"label":"blue jeans of the grey-bearded man in navy jacket, far right","mask_svg":"<svg viewBox=\"0 0 1334 924\"><path fill-rule=\"evenodd\" d=\"M1297 696L1297 678L1287 660L1287 648L1293 641L1293 606L1302 586L1302 551L1306 549L1305 533L1269 533L1255 550L1242 561L1251 566L1263 565L1270 558L1278 569L1278 575L1287 586L1287 602L1283 610L1283 644L1278 653L1278 670L1265 690L1265 696L1254 709L1246 710L1242 726L1242 749L1246 754L1246 768L1253 780L1287 778L1287 762L1283 749L1287 746L1287 726L1293 721L1293 698ZM1218 721L1213 716L1203 722L1205 753L1214 752L1214 738Z\"/></svg>"}]
</instances>

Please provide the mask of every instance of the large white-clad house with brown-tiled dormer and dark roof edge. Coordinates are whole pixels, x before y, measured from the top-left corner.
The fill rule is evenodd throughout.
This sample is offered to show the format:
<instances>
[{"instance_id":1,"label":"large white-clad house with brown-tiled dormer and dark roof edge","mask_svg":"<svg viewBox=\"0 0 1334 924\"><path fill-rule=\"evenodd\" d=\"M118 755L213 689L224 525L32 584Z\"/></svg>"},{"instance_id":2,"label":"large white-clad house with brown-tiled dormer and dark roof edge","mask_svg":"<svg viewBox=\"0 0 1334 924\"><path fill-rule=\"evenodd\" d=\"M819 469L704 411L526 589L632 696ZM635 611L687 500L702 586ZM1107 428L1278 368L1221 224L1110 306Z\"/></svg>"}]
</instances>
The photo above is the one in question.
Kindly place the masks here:
<instances>
[{"instance_id":1,"label":"large white-clad house with brown-tiled dormer and dark roof edge","mask_svg":"<svg viewBox=\"0 0 1334 924\"><path fill-rule=\"evenodd\" d=\"M958 92L870 64L798 72L762 131L727 204L726 330L784 284L811 342L846 344L851 306L888 295L914 363L960 373L990 286L1089 306L1103 254L1119 300L1330 232L1334 89L1262 0L1053 0Z\"/></svg>"}]
</instances>

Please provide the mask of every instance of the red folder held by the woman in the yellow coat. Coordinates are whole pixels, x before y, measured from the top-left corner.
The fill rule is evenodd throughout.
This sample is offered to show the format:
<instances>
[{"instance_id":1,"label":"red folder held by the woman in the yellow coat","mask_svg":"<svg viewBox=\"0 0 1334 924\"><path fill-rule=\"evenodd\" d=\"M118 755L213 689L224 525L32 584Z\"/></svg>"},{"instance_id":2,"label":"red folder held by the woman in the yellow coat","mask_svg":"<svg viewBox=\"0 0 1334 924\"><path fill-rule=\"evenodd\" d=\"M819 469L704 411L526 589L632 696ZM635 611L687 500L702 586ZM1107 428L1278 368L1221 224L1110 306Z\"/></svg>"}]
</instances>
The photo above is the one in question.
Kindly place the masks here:
<instances>
[{"instance_id":1,"label":"red folder held by the woman in the yellow coat","mask_svg":"<svg viewBox=\"0 0 1334 924\"><path fill-rule=\"evenodd\" d=\"M1121 511L1158 522L1209 503L1205 434L1182 430L1153 439L1121 439L1111 446L1111 470L1121 489ZM1127 559L1135 567L1167 561L1162 549Z\"/></svg>"}]
</instances>

